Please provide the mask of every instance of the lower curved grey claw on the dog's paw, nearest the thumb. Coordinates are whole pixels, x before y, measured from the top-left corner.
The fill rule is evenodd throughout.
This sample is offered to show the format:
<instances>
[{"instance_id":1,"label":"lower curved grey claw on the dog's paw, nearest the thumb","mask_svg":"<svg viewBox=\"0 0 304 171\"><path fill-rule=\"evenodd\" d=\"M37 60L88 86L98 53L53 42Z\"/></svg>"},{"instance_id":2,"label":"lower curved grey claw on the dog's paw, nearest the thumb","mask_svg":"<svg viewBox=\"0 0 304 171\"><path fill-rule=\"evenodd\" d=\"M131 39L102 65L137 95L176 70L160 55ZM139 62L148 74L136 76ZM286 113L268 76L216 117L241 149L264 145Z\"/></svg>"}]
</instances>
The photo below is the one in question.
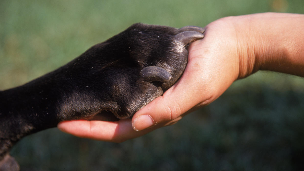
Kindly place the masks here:
<instances>
[{"instance_id":1,"label":"lower curved grey claw on the dog's paw, nearest the thumb","mask_svg":"<svg viewBox=\"0 0 304 171\"><path fill-rule=\"evenodd\" d=\"M157 66L145 67L140 71L140 75L148 81L169 81L172 75L164 68Z\"/></svg>"}]
</instances>

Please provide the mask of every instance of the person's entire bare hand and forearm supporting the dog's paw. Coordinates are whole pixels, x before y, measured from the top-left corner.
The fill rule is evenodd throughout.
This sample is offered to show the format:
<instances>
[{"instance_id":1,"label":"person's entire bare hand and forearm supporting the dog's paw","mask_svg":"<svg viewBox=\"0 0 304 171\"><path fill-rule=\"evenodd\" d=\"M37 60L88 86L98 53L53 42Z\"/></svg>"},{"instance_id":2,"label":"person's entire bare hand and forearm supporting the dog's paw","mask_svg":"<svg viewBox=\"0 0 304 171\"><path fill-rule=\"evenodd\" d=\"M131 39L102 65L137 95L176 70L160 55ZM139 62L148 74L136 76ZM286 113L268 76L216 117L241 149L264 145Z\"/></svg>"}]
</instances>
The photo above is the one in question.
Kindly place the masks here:
<instances>
[{"instance_id":1,"label":"person's entire bare hand and forearm supporting the dog's paw","mask_svg":"<svg viewBox=\"0 0 304 171\"><path fill-rule=\"evenodd\" d=\"M304 15L225 17L205 28L204 39L189 46L181 78L132 119L63 121L58 128L82 138L123 142L176 123L216 100L235 80L258 70L304 77Z\"/></svg>"}]
</instances>

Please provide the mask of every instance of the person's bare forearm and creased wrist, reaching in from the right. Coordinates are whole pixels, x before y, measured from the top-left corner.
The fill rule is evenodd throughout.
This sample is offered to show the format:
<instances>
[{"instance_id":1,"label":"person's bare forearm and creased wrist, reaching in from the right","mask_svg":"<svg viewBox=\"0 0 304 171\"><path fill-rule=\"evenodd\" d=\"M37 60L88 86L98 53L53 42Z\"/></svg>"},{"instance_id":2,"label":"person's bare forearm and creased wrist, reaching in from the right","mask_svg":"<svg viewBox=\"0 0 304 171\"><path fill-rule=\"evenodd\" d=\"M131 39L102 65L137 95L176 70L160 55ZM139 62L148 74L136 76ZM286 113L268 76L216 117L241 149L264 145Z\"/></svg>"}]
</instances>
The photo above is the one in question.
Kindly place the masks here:
<instances>
[{"instance_id":1,"label":"person's bare forearm and creased wrist, reaching in from the right","mask_svg":"<svg viewBox=\"0 0 304 171\"><path fill-rule=\"evenodd\" d=\"M234 21L244 49L239 54L241 76L271 70L304 77L304 15L262 13Z\"/></svg>"}]
</instances>

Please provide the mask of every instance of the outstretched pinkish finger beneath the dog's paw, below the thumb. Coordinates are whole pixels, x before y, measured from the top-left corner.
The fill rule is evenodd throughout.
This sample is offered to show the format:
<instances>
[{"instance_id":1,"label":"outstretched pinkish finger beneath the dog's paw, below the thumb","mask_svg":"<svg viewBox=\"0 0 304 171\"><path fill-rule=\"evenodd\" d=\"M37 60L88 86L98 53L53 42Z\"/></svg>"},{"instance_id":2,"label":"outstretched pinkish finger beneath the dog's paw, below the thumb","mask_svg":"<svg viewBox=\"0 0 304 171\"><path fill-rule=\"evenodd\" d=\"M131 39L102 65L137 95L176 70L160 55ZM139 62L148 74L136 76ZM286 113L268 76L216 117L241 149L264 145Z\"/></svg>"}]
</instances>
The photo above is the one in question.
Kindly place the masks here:
<instances>
[{"instance_id":1,"label":"outstretched pinkish finger beneath the dog's paw, below the thumb","mask_svg":"<svg viewBox=\"0 0 304 171\"><path fill-rule=\"evenodd\" d=\"M131 119L119 121L63 121L57 125L58 129L81 138L95 139L108 142L123 142L127 139L147 134L151 130L134 131Z\"/></svg>"}]
</instances>

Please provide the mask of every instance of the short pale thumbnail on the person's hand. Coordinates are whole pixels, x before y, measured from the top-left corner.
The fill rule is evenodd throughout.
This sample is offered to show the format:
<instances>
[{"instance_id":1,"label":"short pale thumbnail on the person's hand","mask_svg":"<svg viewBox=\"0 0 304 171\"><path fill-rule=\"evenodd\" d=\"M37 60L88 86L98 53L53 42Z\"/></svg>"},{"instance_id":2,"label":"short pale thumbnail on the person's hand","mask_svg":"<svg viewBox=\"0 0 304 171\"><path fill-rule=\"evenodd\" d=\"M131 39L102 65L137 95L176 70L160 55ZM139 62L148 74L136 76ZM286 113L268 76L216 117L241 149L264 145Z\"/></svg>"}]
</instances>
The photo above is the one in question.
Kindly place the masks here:
<instances>
[{"instance_id":1,"label":"short pale thumbnail on the person's hand","mask_svg":"<svg viewBox=\"0 0 304 171\"><path fill-rule=\"evenodd\" d=\"M135 131L140 131L156 125L156 123L150 115L140 115L139 117L135 118L132 125Z\"/></svg>"}]
</instances>

